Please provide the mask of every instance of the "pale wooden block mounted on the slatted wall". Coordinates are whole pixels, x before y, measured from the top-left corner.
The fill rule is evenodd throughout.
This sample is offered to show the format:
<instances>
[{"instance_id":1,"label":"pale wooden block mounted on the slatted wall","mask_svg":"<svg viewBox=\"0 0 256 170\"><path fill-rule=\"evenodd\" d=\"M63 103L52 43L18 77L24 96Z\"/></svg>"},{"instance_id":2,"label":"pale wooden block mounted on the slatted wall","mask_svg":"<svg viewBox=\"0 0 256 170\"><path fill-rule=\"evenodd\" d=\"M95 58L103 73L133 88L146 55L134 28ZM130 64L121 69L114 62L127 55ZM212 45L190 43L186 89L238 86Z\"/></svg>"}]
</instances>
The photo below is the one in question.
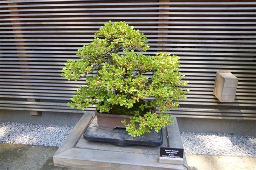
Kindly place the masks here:
<instances>
[{"instance_id":1,"label":"pale wooden block mounted on the slatted wall","mask_svg":"<svg viewBox=\"0 0 256 170\"><path fill-rule=\"evenodd\" d=\"M213 94L220 102L234 102L238 78L230 72L217 72Z\"/></svg>"}]
</instances>

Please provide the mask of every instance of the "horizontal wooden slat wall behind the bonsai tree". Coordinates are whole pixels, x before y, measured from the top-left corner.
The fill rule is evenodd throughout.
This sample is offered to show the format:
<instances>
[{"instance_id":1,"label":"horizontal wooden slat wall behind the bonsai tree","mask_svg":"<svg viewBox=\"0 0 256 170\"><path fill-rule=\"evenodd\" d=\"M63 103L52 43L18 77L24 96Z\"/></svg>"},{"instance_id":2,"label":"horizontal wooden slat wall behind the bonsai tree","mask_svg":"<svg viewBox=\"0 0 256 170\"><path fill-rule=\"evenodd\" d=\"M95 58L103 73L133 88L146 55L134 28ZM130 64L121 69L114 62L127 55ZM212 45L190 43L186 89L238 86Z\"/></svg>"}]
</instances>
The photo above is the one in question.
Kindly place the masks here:
<instances>
[{"instance_id":1,"label":"horizontal wooden slat wall behind the bonsai tree","mask_svg":"<svg viewBox=\"0 0 256 170\"><path fill-rule=\"evenodd\" d=\"M146 54L180 56L191 91L173 115L256 119L255 1L0 1L0 109L82 112L66 102L84 80L60 73L107 20L144 32ZM213 96L217 70L238 77L234 103Z\"/></svg>"}]
</instances>

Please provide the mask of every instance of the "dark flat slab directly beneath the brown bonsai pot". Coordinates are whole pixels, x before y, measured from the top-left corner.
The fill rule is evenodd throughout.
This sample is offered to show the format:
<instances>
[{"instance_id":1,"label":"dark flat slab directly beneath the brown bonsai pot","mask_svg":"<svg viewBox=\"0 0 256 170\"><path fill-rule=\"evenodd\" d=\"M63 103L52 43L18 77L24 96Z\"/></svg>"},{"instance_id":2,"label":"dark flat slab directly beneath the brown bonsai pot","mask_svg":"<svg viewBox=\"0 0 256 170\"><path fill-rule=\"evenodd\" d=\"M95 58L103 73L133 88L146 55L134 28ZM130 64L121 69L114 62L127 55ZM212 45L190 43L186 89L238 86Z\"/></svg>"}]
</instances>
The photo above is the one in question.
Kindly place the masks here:
<instances>
[{"instance_id":1,"label":"dark flat slab directly beneath the brown bonsai pot","mask_svg":"<svg viewBox=\"0 0 256 170\"><path fill-rule=\"evenodd\" d=\"M97 125L97 118L93 119L90 126L84 132L86 140L105 141L118 146L132 146L132 145L147 145L160 146L163 144L163 134L154 130L151 133L143 134L140 137L131 137L123 128L116 128L114 130L99 129Z\"/></svg>"}]
</instances>

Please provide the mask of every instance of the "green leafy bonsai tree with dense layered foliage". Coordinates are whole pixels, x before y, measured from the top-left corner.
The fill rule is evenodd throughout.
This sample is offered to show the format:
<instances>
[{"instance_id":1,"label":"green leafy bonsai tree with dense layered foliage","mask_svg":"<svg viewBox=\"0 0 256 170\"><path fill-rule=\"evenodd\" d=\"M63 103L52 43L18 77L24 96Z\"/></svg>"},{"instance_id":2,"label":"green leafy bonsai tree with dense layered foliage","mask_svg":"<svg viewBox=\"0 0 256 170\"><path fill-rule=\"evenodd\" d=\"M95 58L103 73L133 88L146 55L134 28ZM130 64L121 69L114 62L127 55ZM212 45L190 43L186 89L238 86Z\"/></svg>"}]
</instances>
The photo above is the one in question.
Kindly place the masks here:
<instances>
[{"instance_id":1,"label":"green leafy bonsai tree with dense layered foliage","mask_svg":"<svg viewBox=\"0 0 256 170\"><path fill-rule=\"evenodd\" d=\"M169 53L144 55L147 38L125 22L100 27L89 44L78 49L79 60L68 60L62 76L68 80L86 77L68 105L84 108L96 105L104 114L131 115L123 121L133 137L173 123L166 111L185 100L187 82L180 75L179 57ZM156 113L154 108L158 107Z\"/></svg>"}]
</instances>

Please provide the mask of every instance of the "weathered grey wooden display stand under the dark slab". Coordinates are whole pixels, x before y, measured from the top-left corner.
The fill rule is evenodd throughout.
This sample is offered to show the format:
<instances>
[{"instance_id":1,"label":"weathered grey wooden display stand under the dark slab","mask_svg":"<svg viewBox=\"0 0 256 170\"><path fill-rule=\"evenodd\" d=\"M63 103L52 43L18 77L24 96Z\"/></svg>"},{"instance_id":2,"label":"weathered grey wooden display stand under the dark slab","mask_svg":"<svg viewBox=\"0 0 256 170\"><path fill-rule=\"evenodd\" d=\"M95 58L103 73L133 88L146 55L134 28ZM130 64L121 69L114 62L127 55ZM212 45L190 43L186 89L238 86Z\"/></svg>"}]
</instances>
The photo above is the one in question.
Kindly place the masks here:
<instances>
[{"instance_id":1,"label":"weathered grey wooden display stand under the dark slab","mask_svg":"<svg viewBox=\"0 0 256 170\"><path fill-rule=\"evenodd\" d=\"M159 163L160 147L183 148L176 118L163 129L161 146L115 146L83 138L95 117L86 112L53 156L55 166L85 169L187 169L186 158L180 165Z\"/></svg>"}]
</instances>

